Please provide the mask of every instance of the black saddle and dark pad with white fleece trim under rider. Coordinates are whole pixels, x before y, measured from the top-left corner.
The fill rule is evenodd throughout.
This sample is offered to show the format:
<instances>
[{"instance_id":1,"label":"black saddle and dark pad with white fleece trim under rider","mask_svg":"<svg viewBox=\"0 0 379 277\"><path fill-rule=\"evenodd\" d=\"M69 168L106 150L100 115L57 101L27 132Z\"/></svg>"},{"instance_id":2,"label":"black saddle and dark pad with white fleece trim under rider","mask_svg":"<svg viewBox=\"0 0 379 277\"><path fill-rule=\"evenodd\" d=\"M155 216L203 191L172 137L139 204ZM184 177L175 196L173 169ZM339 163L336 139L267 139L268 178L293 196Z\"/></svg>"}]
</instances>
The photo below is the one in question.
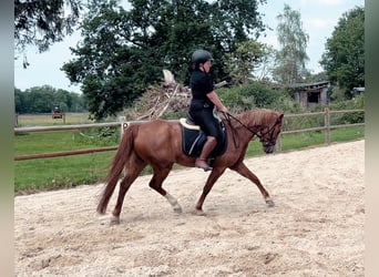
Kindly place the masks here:
<instances>
[{"instance_id":1,"label":"black saddle and dark pad with white fleece trim under rider","mask_svg":"<svg viewBox=\"0 0 379 277\"><path fill-rule=\"evenodd\" d=\"M184 117L180 119L180 123L182 126L183 153L188 156L198 157L206 142L206 134L201 130L198 125L194 123L190 114L187 114L185 119ZM216 147L209 154L209 157L208 157L209 165L212 165L212 162L215 160L216 156L224 154L227 147L226 129L222 121L219 121L219 124L223 130L223 137L222 140L217 141Z\"/></svg>"}]
</instances>

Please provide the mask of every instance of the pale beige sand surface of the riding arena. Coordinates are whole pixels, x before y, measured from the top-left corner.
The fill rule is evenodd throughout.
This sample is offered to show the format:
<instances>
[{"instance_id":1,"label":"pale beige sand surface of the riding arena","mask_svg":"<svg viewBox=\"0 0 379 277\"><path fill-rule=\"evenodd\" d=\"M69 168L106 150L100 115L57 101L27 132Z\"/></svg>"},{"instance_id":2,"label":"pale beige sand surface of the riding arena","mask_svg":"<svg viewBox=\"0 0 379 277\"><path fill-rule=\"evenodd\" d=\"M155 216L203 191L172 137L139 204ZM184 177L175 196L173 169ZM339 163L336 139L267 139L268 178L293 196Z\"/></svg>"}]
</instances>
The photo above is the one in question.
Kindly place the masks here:
<instances>
[{"instance_id":1,"label":"pale beige sand surface of the riding arena","mask_svg":"<svg viewBox=\"0 0 379 277\"><path fill-rule=\"evenodd\" d=\"M151 176L126 194L121 224L96 214L102 185L14 197L17 276L363 276L365 141L253 157L258 188L226 171L193 213L208 173ZM74 170L74 168L73 168Z\"/></svg>"}]
</instances>

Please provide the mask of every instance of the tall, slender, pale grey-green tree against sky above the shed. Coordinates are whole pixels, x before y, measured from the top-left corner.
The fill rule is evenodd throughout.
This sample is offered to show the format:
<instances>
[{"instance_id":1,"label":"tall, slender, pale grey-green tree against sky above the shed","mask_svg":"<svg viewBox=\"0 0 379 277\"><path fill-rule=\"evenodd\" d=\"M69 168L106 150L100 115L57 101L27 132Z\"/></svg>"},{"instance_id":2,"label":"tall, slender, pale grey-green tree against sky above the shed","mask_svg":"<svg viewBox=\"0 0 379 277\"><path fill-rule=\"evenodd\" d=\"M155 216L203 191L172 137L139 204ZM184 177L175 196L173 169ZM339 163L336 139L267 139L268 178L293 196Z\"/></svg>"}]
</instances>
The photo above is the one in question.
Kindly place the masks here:
<instances>
[{"instance_id":1,"label":"tall, slender, pale grey-green tree against sky above the shed","mask_svg":"<svg viewBox=\"0 0 379 277\"><path fill-rule=\"evenodd\" d=\"M284 12L277 16L280 50L276 57L274 79L283 84L301 82L306 75L306 48L309 35L304 31L300 12L285 4Z\"/></svg>"}]
</instances>

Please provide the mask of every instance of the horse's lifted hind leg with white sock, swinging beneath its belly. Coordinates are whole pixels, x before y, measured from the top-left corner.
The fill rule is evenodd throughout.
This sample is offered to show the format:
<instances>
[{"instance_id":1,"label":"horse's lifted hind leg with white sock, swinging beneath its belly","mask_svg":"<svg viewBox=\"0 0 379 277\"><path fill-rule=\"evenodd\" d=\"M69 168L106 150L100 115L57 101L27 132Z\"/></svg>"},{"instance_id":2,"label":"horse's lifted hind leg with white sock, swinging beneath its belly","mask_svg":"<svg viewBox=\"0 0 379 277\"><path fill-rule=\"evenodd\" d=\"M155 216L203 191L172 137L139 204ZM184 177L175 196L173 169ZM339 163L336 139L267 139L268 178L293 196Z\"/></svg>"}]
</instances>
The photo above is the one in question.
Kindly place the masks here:
<instances>
[{"instance_id":1,"label":"horse's lifted hind leg with white sock, swinging beneath its belly","mask_svg":"<svg viewBox=\"0 0 379 277\"><path fill-rule=\"evenodd\" d=\"M160 168L155 168L153 167L154 171L154 175L152 177L152 179L150 181L148 186L153 189L155 189L158 194L161 194L163 197L165 197L168 203L171 204L171 206L173 207L175 213L182 213L182 207L181 205L177 203L177 199L172 196L170 193L167 193L163 187L163 181L167 177L170 171L172 170L173 165L166 166L166 167L160 167Z\"/></svg>"}]
</instances>

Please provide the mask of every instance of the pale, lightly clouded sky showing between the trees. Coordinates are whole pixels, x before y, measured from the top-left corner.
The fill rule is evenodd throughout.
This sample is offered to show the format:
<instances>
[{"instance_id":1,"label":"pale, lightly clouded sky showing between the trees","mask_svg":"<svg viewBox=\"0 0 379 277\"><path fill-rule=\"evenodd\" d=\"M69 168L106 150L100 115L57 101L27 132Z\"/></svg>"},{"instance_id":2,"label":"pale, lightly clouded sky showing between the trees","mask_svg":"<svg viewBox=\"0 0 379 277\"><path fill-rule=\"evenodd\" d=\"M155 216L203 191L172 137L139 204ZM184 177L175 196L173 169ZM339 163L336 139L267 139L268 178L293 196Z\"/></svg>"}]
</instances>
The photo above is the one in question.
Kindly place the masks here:
<instances>
[{"instance_id":1,"label":"pale, lightly clouded sky showing between the trees","mask_svg":"<svg viewBox=\"0 0 379 277\"><path fill-rule=\"evenodd\" d=\"M311 73L322 71L319 60L325 52L325 43L331 37L338 20L345 12L355 7L363 7L365 0L267 0L260 6L259 12L264 13L263 21L273 30L266 30L265 37L259 41L278 49L276 38L276 17L283 13L287 3L291 10L300 12L300 19L305 32L309 35L307 54L309 61L306 64ZM80 85L70 83L65 73L60 69L65 62L74 59L70 47L75 48L80 41L80 33L66 37L62 42L53 44L48 52L39 53L35 48L29 48L27 59L30 65L22 66L22 59L14 60L14 86L27 90L33 86L51 85L70 92L81 93Z\"/></svg>"}]
</instances>

